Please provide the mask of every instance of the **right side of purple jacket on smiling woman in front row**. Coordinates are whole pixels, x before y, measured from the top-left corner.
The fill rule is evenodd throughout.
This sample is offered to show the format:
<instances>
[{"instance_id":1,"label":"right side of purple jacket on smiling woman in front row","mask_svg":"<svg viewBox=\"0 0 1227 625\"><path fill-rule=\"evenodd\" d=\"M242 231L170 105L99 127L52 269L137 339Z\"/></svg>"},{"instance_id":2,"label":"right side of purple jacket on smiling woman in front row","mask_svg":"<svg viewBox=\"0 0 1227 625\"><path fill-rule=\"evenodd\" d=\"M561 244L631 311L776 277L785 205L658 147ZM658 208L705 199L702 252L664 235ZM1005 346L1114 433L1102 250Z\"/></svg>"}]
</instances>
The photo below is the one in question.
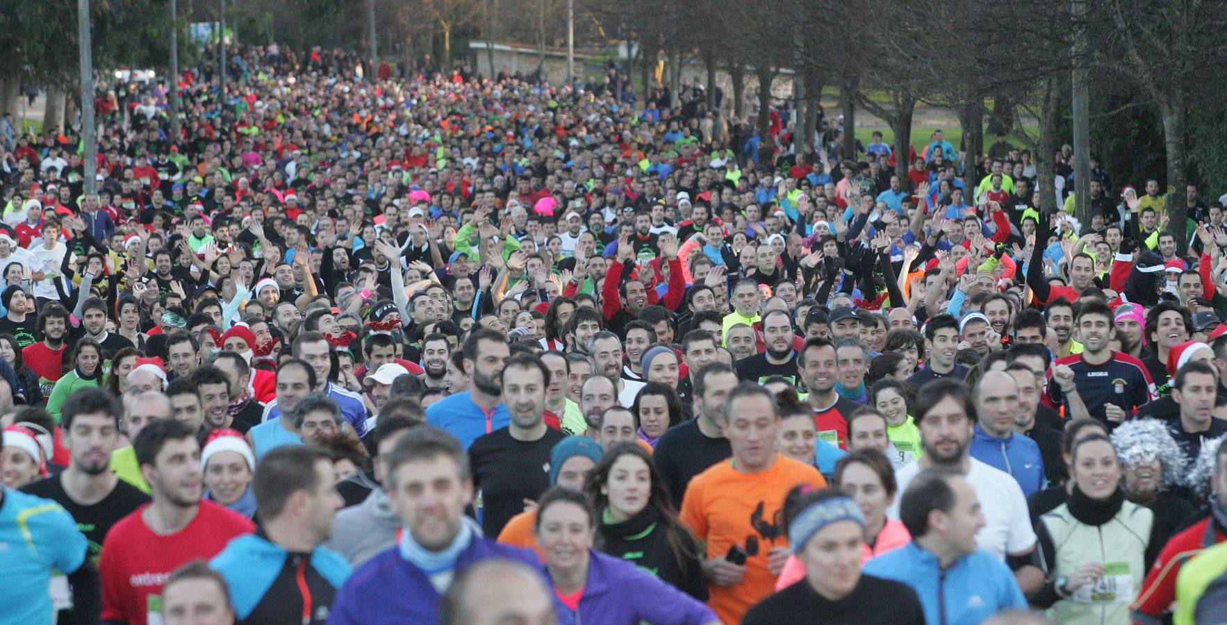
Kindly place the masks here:
<instances>
[{"instance_id":1,"label":"right side of purple jacket on smiling woman in front row","mask_svg":"<svg viewBox=\"0 0 1227 625\"><path fill-rule=\"evenodd\" d=\"M702 625L715 613L638 566L589 549L588 582L577 623Z\"/></svg>"}]
</instances>

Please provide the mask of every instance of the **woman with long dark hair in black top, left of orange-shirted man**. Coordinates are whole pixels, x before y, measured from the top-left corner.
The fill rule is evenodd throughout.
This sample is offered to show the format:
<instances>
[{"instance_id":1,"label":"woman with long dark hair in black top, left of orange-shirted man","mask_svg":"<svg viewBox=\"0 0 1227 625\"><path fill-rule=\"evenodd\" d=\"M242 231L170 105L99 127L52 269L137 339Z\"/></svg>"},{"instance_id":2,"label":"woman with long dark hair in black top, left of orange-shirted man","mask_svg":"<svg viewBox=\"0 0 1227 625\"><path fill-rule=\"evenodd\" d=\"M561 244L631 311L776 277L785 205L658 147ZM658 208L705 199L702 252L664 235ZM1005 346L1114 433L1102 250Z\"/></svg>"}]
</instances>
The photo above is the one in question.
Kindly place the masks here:
<instances>
[{"instance_id":1,"label":"woman with long dark hair in black top, left of orange-shirted man","mask_svg":"<svg viewBox=\"0 0 1227 625\"><path fill-rule=\"evenodd\" d=\"M600 520L596 548L675 588L707 600L707 581L694 537L677 521L652 456L634 442L610 446L588 474L584 488Z\"/></svg>"}]
</instances>

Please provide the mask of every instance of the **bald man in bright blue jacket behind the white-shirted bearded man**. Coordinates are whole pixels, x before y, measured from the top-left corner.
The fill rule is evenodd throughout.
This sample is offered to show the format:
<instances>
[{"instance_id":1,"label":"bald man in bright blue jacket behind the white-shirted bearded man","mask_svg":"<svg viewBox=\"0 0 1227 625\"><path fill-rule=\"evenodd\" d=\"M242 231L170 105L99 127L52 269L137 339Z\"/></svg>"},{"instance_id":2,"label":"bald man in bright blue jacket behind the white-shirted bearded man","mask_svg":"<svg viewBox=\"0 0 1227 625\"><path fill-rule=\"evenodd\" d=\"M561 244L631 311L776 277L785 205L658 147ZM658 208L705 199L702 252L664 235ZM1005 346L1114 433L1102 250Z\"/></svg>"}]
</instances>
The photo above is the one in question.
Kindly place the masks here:
<instances>
[{"instance_id":1,"label":"bald man in bright blue jacket behind the white-shirted bearded man","mask_svg":"<svg viewBox=\"0 0 1227 625\"><path fill-rule=\"evenodd\" d=\"M1021 401L1018 382L1005 371L988 371L972 398L977 414L972 457L1012 475L1026 496L1043 490L1047 480L1039 445L1014 431Z\"/></svg>"}]
</instances>

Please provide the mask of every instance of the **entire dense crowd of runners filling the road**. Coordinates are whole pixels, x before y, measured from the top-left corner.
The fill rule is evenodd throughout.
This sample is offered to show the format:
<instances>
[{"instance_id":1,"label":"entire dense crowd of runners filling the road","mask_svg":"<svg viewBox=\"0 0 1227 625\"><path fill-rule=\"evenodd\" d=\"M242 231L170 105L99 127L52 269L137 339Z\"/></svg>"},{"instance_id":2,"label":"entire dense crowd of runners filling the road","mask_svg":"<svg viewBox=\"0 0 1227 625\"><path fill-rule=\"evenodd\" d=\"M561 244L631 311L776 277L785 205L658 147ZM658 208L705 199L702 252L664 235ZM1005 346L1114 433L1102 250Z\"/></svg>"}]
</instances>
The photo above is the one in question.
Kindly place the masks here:
<instances>
[{"instance_id":1,"label":"entire dense crowd of runners filling the road","mask_svg":"<svg viewBox=\"0 0 1227 625\"><path fill-rule=\"evenodd\" d=\"M1227 621L1222 199L229 63L0 121L0 624Z\"/></svg>"}]
</instances>

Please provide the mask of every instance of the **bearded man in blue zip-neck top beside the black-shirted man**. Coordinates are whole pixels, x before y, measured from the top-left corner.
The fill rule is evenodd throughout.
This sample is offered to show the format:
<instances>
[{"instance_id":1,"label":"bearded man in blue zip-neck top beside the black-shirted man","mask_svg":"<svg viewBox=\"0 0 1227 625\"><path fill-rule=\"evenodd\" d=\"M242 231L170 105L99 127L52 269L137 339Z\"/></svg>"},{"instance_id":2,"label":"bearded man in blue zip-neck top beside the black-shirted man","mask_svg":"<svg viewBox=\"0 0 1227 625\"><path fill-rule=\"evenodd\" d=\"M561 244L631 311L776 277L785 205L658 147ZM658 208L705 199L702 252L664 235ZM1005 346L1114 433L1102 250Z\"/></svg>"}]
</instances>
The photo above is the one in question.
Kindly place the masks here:
<instances>
[{"instance_id":1,"label":"bearded man in blue zip-neck top beside the black-shirted man","mask_svg":"<svg viewBox=\"0 0 1227 625\"><path fill-rule=\"evenodd\" d=\"M510 414L503 403L503 365L510 358L507 337L488 327L474 327L460 347L469 388L426 409L426 422L460 440L467 450L483 434L506 428Z\"/></svg>"}]
</instances>

